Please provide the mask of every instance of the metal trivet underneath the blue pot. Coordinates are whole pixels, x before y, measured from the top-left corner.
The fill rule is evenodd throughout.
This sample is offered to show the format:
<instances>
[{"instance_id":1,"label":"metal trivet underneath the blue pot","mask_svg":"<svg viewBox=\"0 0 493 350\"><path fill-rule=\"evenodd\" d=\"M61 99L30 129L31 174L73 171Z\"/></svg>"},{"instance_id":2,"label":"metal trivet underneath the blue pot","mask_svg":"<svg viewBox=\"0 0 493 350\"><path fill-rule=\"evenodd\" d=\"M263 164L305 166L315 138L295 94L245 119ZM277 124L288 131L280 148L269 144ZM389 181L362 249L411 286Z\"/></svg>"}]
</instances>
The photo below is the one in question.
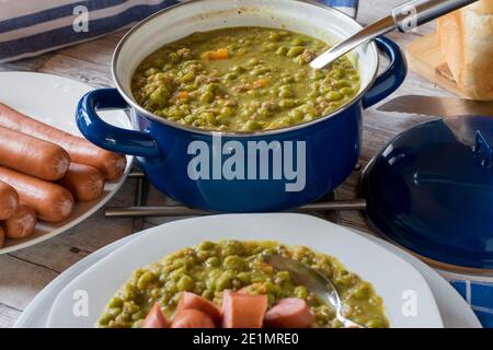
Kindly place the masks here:
<instances>
[{"instance_id":1,"label":"metal trivet underneath the blue pot","mask_svg":"<svg viewBox=\"0 0 493 350\"><path fill-rule=\"evenodd\" d=\"M210 211L190 208L183 205L160 207L147 206L146 202L149 183L146 179L146 176L140 170L136 168L129 174L128 177L136 179L134 207L106 208L104 214L106 218L134 219L133 232L138 232L142 229L145 218L198 217L214 214L214 212ZM362 199L339 200L337 190L334 190L332 194L319 201L298 207L286 212L310 213L340 224L341 210L364 210L365 207L366 201Z\"/></svg>"}]
</instances>

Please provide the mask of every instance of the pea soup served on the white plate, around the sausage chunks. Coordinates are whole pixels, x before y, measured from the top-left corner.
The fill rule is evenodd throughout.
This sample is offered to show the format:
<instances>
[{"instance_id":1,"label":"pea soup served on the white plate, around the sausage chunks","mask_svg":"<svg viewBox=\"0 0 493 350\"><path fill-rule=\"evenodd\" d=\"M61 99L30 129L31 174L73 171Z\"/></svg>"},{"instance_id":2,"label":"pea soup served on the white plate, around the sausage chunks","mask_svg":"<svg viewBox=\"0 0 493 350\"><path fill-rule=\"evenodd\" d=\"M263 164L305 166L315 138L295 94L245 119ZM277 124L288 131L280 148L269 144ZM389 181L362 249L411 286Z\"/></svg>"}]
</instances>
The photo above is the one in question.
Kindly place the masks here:
<instances>
[{"instance_id":1,"label":"pea soup served on the white plate, around the sausage chunks","mask_svg":"<svg viewBox=\"0 0 493 350\"><path fill-rule=\"evenodd\" d=\"M289 271L276 270L265 262L266 254L301 261L328 277L341 295L347 318L365 327L389 327L382 300L371 284L346 270L334 257L303 246L241 241L203 242L138 269L111 299L96 326L138 328L156 304L171 319L182 292L200 295L220 307L225 292L230 291L267 295L268 307L283 299L301 299L314 314L312 327L342 327L331 306L306 285L296 284Z\"/></svg>"}]
</instances>

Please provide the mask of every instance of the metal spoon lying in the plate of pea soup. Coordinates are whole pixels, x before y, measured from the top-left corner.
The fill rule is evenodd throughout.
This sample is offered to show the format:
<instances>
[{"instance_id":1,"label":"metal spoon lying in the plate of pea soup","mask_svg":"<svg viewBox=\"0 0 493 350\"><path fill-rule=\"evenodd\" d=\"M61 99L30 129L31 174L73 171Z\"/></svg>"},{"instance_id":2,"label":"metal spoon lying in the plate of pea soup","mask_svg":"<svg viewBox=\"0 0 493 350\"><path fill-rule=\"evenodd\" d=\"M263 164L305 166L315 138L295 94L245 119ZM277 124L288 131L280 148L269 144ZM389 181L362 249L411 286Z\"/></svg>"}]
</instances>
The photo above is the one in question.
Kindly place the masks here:
<instances>
[{"instance_id":1,"label":"metal spoon lying in the plate of pea soup","mask_svg":"<svg viewBox=\"0 0 493 350\"><path fill-rule=\"evenodd\" d=\"M318 298L331 305L335 310L335 317L344 327L364 328L342 315L341 298L332 281L325 276L305 264L279 255L264 255L264 261L271 264L277 270L288 271L295 283L306 285Z\"/></svg>"}]
</instances>

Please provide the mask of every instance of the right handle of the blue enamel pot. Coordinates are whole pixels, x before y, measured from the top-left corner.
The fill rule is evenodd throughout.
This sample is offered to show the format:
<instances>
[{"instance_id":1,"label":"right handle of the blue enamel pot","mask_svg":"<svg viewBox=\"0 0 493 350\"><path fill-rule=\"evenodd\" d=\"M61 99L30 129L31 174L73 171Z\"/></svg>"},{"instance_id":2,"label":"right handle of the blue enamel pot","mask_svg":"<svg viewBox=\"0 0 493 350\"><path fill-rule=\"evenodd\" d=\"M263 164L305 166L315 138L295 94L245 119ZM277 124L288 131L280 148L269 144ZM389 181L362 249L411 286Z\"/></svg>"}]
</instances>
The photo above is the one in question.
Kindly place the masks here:
<instances>
[{"instance_id":1,"label":"right handle of the blue enamel pot","mask_svg":"<svg viewBox=\"0 0 493 350\"><path fill-rule=\"evenodd\" d=\"M377 80L363 97L363 108L369 108L393 93L408 75L408 63L404 55L394 42L380 36L375 39L377 47L389 58L387 69L377 77Z\"/></svg>"}]
</instances>

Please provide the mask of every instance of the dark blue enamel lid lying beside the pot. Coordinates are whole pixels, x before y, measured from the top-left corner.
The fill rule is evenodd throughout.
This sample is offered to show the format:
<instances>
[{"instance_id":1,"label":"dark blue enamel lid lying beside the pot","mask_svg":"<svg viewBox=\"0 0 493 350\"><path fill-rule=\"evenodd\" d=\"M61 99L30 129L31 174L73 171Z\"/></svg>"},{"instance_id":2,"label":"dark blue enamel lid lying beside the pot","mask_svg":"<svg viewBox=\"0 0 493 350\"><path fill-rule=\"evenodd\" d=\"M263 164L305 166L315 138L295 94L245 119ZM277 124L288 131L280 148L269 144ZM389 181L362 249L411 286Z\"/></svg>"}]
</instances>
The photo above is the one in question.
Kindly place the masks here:
<instances>
[{"instance_id":1,"label":"dark blue enamel lid lying beside the pot","mask_svg":"<svg viewBox=\"0 0 493 350\"><path fill-rule=\"evenodd\" d=\"M493 118L433 120L393 139L365 171L370 222L434 261L493 269Z\"/></svg>"}]
</instances>

